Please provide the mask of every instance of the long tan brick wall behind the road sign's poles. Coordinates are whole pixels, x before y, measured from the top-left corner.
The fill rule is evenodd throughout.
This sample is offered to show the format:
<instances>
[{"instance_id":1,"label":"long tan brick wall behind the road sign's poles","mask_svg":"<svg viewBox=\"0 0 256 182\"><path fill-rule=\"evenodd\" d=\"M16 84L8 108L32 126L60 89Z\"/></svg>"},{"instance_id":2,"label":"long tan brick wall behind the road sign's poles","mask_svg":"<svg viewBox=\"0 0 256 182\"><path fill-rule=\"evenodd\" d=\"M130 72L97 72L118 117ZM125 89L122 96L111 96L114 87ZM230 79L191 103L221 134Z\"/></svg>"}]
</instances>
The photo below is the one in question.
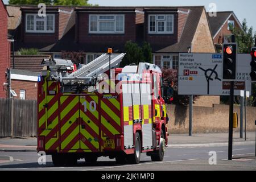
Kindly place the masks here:
<instances>
[{"instance_id":1,"label":"long tan brick wall behind the road sign's poles","mask_svg":"<svg viewBox=\"0 0 256 182\"><path fill-rule=\"evenodd\" d=\"M238 113L238 128L240 131L240 106L234 106ZM167 105L168 132L170 134L188 134L189 107ZM255 131L255 107L247 107L246 129ZM214 105L213 107L193 107L193 133L222 133L229 130L229 105Z\"/></svg>"}]
</instances>

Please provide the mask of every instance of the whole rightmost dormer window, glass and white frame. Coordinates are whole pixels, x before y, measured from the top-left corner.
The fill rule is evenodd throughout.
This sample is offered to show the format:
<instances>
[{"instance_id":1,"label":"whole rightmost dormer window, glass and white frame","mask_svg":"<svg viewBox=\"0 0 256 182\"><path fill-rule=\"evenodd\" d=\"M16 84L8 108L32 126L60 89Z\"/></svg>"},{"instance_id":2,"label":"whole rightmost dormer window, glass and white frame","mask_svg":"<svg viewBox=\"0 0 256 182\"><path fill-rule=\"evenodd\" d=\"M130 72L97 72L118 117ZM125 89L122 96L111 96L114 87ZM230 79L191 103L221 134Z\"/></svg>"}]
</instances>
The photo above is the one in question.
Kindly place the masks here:
<instances>
[{"instance_id":1,"label":"whole rightmost dormer window, glass and white frame","mask_svg":"<svg viewBox=\"0 0 256 182\"><path fill-rule=\"evenodd\" d=\"M148 34L174 34L174 15L149 15Z\"/></svg>"}]
</instances>

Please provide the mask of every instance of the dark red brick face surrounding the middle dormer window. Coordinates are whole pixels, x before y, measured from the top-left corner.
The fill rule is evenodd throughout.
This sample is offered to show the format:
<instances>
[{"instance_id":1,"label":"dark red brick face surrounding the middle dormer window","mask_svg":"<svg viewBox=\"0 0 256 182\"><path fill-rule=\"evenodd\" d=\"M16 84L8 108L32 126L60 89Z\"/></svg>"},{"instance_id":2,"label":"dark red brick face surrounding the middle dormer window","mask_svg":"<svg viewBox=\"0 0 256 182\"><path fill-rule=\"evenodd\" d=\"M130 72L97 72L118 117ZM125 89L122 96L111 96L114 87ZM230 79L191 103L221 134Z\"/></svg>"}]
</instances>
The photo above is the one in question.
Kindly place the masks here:
<instances>
[{"instance_id":1,"label":"dark red brick face surrounding the middle dormer window","mask_svg":"<svg viewBox=\"0 0 256 182\"><path fill-rule=\"evenodd\" d=\"M112 13L117 14L117 13ZM80 43L93 43L93 44L125 44L128 40L135 42L136 39L136 14L125 14L125 34L89 34L89 14L79 13L79 28L78 37Z\"/></svg>"}]
</instances>

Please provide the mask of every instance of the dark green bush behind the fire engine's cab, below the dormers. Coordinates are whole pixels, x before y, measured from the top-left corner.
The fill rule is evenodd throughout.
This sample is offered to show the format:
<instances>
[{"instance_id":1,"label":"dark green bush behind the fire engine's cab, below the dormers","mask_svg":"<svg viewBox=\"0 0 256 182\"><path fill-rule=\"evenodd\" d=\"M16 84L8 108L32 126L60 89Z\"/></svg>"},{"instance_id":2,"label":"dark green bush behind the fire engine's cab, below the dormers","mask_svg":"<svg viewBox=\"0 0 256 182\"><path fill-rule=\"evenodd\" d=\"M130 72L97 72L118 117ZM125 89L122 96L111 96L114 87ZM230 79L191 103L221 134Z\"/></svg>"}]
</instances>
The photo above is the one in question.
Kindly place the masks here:
<instances>
[{"instance_id":1,"label":"dark green bush behind the fire engine's cab, below the dormers","mask_svg":"<svg viewBox=\"0 0 256 182\"><path fill-rule=\"evenodd\" d=\"M128 41L125 43L125 57L121 62L121 66L125 67L129 64L138 65L140 62L152 63L152 48L149 43L144 42L143 46Z\"/></svg>"}]
</instances>

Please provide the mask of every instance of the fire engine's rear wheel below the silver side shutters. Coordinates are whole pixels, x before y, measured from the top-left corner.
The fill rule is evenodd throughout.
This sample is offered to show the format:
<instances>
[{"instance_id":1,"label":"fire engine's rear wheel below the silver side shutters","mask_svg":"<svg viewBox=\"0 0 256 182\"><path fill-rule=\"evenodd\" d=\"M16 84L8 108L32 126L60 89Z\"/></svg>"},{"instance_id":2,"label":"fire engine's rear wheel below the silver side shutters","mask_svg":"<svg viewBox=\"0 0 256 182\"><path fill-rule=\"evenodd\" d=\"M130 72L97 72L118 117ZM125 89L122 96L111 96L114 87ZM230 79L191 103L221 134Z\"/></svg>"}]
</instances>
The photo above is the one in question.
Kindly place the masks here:
<instances>
[{"instance_id":1,"label":"fire engine's rear wheel below the silver side shutters","mask_svg":"<svg viewBox=\"0 0 256 182\"><path fill-rule=\"evenodd\" d=\"M127 155L127 160L131 164L139 164L141 160L141 137L139 133L135 134L134 154Z\"/></svg>"}]
</instances>

